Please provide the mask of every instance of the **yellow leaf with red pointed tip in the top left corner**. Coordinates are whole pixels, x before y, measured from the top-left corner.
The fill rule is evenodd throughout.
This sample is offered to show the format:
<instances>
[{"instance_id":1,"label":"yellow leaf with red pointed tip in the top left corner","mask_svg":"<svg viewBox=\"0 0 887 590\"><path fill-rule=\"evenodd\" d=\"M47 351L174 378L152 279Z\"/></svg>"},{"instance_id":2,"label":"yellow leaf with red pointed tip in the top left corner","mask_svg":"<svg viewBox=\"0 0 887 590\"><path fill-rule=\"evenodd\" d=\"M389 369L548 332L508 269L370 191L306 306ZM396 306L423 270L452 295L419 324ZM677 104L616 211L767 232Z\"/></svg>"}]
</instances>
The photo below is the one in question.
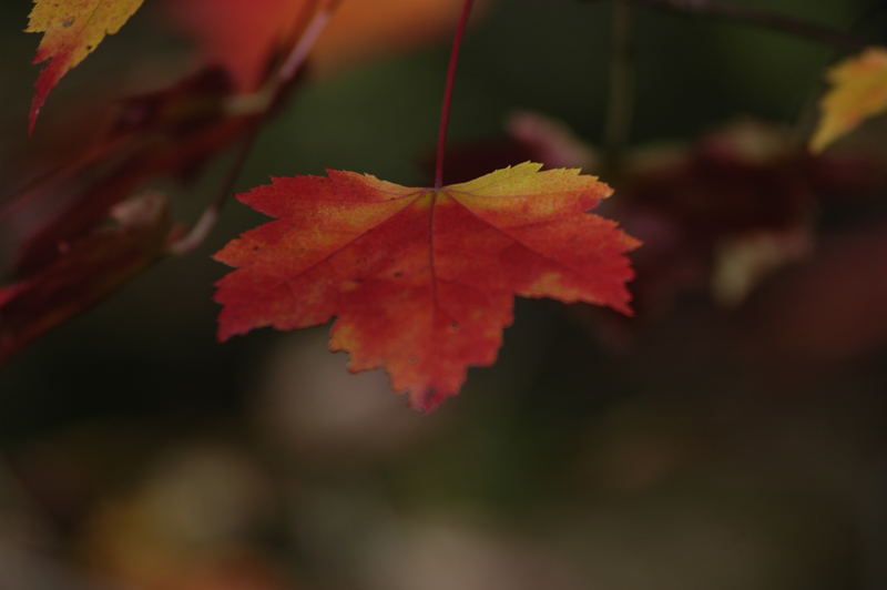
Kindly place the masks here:
<instances>
[{"instance_id":1,"label":"yellow leaf with red pointed tip in the top left corner","mask_svg":"<svg viewBox=\"0 0 887 590\"><path fill-rule=\"evenodd\" d=\"M33 131L50 91L72 68L83 61L108 34L114 34L143 0L34 0L28 18L29 33L45 33L33 63L49 63L37 79L31 101L29 130Z\"/></svg>"}]
</instances>

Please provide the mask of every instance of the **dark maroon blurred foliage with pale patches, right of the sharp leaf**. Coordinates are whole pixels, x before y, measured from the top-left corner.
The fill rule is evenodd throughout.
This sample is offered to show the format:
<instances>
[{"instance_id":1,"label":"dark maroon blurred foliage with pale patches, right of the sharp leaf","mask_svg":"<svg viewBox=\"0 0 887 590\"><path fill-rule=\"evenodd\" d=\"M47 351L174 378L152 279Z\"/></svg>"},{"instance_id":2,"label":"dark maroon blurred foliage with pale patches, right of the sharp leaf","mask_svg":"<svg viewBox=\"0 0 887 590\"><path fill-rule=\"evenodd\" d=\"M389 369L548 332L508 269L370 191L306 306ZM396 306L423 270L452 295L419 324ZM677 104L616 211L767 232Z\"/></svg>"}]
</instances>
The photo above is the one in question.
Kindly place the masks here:
<instances>
[{"instance_id":1,"label":"dark maroon blurred foliage with pale patches, right of the sharp leaf","mask_svg":"<svg viewBox=\"0 0 887 590\"><path fill-rule=\"evenodd\" d=\"M631 155L619 217L645 247L635 258L639 314L711 289L736 305L767 274L803 257L818 202L873 194L883 174L865 153L810 156L783 130L738 121L692 144Z\"/></svg>"}]
</instances>

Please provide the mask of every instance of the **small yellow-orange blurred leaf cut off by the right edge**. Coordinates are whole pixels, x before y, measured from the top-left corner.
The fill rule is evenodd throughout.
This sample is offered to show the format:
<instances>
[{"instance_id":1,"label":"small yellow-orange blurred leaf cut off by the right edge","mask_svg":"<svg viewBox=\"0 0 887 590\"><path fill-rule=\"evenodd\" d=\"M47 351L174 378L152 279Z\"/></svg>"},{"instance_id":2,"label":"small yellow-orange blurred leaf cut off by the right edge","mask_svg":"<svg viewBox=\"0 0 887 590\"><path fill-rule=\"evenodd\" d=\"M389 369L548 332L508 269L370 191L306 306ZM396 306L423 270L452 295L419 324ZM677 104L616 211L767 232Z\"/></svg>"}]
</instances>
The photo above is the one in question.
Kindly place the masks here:
<instances>
[{"instance_id":1,"label":"small yellow-orange blurred leaf cut off by the right edge","mask_svg":"<svg viewBox=\"0 0 887 590\"><path fill-rule=\"evenodd\" d=\"M866 49L832 68L827 79L832 89L822 100L822 118L810 140L816 153L887 110L887 48Z\"/></svg>"}]
</instances>

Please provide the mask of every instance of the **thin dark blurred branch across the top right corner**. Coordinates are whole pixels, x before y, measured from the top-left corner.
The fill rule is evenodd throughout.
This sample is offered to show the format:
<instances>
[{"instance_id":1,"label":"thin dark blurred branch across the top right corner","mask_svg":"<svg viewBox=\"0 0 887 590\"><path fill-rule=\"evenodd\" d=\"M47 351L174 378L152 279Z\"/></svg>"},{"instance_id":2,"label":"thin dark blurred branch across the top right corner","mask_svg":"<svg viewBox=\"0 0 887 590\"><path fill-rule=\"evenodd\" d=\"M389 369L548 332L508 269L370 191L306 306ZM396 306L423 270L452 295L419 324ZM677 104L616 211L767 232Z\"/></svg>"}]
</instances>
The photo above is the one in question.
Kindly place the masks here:
<instances>
[{"instance_id":1,"label":"thin dark blurred branch across the top right corner","mask_svg":"<svg viewBox=\"0 0 887 590\"><path fill-rule=\"evenodd\" d=\"M721 17L735 22L755 24L774 29L796 37L804 37L835 45L844 50L857 50L865 47L866 41L838 29L816 22L809 22L787 14L762 10L758 8L737 6L720 0L633 0L639 4L676 12L693 12L712 17Z\"/></svg>"}]
</instances>

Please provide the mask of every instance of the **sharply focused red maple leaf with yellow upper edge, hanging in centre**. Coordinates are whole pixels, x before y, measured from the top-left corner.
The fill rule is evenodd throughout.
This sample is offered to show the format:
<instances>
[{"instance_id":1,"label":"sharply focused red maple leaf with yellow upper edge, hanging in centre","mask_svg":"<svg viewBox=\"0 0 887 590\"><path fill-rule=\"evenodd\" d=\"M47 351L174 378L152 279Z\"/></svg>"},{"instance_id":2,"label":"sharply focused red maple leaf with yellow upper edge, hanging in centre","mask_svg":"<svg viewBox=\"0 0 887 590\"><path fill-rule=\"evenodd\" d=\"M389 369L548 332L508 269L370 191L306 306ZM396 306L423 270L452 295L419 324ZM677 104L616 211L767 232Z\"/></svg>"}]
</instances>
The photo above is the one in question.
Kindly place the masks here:
<instances>
[{"instance_id":1,"label":"sharply focused red maple leaf with yellow upper edge, hanging in centre","mask_svg":"<svg viewBox=\"0 0 887 590\"><path fill-rule=\"evenodd\" d=\"M276 177L238 199L273 217L215 258L218 337L333 316L330 349L351 372L385 367L430 410L469 365L495 362L513 295L631 314L624 253L640 243L587 214L612 190L578 170L527 162L442 189L354 172Z\"/></svg>"}]
</instances>

